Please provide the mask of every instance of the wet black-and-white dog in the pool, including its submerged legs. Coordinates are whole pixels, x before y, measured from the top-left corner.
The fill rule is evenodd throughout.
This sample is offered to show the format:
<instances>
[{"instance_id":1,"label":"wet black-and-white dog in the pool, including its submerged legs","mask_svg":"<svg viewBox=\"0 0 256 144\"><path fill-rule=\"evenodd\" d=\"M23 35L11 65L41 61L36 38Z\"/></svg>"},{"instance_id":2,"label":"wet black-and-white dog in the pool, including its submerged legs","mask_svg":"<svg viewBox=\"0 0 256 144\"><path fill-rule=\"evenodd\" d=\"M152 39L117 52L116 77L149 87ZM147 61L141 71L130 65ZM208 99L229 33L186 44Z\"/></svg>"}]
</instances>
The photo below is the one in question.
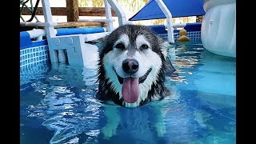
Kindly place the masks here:
<instances>
[{"instance_id":1,"label":"wet black-and-white dog in the pool, including its submerged legs","mask_svg":"<svg viewBox=\"0 0 256 144\"><path fill-rule=\"evenodd\" d=\"M100 101L131 108L170 96L169 89L164 86L166 74L175 71L167 57L170 43L158 38L148 26L119 26L109 35L86 43L98 46L96 98ZM137 115L136 110L126 111L130 121L122 121L122 114L119 114L115 105L104 107L107 119L106 126L101 130L104 138L114 136L118 126L124 126L123 130L127 126L130 130L138 130L134 122L141 122L139 127L143 127L144 121L148 121L146 118L132 117L133 114ZM163 122L166 112L160 103L150 107L150 114L154 114L155 130L158 136L163 136L166 134ZM145 113L141 109L138 111ZM142 130L147 130L146 127Z\"/></svg>"}]
</instances>

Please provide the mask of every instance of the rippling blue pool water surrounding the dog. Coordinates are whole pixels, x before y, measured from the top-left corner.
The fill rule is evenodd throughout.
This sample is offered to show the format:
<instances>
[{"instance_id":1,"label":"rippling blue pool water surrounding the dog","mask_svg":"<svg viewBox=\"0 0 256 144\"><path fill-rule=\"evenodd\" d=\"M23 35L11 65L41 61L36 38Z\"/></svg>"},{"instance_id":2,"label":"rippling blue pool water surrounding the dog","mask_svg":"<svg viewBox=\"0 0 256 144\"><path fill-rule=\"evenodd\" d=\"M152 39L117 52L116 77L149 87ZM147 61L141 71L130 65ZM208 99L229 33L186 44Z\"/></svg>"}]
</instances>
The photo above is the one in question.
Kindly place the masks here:
<instances>
[{"instance_id":1,"label":"rippling blue pool water surrounding the dog","mask_svg":"<svg viewBox=\"0 0 256 144\"><path fill-rule=\"evenodd\" d=\"M95 69L21 70L21 143L235 143L235 58L211 54L200 40L176 43L175 50L170 97L133 109L94 98Z\"/></svg>"}]
</instances>

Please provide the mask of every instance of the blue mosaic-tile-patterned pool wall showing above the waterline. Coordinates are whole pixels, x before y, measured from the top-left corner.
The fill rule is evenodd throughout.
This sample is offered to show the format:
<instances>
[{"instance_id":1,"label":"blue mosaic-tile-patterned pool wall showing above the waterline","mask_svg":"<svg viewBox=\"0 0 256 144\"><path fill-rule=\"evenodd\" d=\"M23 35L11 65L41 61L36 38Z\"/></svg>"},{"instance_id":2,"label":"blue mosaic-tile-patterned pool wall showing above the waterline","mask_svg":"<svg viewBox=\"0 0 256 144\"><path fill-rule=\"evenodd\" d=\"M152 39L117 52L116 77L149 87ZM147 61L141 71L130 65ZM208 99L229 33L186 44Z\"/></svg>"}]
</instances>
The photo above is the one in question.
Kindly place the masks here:
<instances>
[{"instance_id":1,"label":"blue mosaic-tile-patterned pool wall showing above the waterline","mask_svg":"<svg viewBox=\"0 0 256 144\"><path fill-rule=\"evenodd\" d=\"M159 37L167 39L167 34L158 34ZM190 40L201 38L201 31L189 31L187 36ZM174 40L179 37L178 32L174 32ZM20 69L31 69L40 63L50 62L48 45L28 47L20 50Z\"/></svg>"}]
</instances>

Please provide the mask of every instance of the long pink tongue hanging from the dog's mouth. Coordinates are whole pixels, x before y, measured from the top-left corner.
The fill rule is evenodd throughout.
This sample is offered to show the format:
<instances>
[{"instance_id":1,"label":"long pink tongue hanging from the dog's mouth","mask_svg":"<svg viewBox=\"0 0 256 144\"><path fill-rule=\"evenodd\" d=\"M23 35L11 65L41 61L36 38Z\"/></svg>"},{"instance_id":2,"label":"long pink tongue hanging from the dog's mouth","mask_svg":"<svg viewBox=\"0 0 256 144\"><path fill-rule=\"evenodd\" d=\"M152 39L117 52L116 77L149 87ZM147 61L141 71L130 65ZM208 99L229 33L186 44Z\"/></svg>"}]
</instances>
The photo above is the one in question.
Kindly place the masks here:
<instances>
[{"instance_id":1,"label":"long pink tongue hanging from the dog's mouth","mask_svg":"<svg viewBox=\"0 0 256 144\"><path fill-rule=\"evenodd\" d=\"M134 103L138 100L138 96L138 78L123 78L122 98L128 103Z\"/></svg>"}]
</instances>

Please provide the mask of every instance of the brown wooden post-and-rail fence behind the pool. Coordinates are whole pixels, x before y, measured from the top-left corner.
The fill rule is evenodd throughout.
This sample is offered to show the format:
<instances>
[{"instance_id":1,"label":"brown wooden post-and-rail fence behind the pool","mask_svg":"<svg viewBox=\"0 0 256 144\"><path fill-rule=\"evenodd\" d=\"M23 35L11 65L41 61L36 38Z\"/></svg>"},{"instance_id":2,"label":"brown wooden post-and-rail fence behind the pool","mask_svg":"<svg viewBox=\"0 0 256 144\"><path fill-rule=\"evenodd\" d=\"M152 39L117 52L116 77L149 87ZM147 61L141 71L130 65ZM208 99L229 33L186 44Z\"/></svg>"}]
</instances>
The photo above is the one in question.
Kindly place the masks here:
<instances>
[{"instance_id":1,"label":"brown wooden post-and-rail fence behind the pool","mask_svg":"<svg viewBox=\"0 0 256 144\"><path fill-rule=\"evenodd\" d=\"M78 22L79 16L106 17L105 7L78 7L78 0L66 0L66 7L50 7L53 16L67 16L67 22L58 22L54 28L78 27L78 26L104 26L106 22ZM112 16L116 17L114 10ZM31 15L31 11L24 9L21 15ZM35 15L43 15L42 7L37 7Z\"/></svg>"}]
</instances>

